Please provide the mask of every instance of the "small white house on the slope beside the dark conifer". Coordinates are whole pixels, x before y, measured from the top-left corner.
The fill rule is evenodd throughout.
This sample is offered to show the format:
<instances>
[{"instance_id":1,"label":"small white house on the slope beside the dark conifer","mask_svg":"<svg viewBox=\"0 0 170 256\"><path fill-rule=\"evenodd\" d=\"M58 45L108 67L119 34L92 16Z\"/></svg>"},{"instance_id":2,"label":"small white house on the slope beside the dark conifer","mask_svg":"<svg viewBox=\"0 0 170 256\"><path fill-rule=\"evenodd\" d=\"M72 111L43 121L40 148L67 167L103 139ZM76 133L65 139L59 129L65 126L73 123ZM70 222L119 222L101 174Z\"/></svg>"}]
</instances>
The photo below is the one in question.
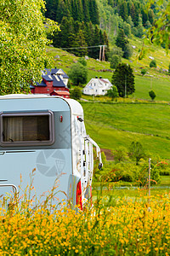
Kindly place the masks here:
<instances>
[{"instance_id":1,"label":"small white house on the slope beside the dark conifer","mask_svg":"<svg viewBox=\"0 0 170 256\"><path fill-rule=\"evenodd\" d=\"M111 89L111 82L109 79L102 79L102 77L96 77L91 79L88 84L83 88L82 92L86 95L105 95L107 90Z\"/></svg>"}]
</instances>

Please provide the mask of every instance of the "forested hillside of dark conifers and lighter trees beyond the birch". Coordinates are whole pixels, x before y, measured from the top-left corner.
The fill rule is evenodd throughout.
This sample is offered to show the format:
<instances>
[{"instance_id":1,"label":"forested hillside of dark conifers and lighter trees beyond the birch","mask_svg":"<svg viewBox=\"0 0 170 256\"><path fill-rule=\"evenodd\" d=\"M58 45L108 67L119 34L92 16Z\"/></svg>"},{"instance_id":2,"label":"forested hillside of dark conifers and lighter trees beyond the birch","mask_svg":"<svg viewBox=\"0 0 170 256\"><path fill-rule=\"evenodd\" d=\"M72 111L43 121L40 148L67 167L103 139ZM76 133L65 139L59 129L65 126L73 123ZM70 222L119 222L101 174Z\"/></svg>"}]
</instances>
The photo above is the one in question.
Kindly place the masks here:
<instances>
[{"instance_id":1,"label":"forested hillside of dark conifers and lighter trees beyond the birch","mask_svg":"<svg viewBox=\"0 0 170 256\"><path fill-rule=\"evenodd\" d=\"M167 0L161 8L166 5ZM47 0L46 9L45 16L59 22L61 29L52 37L55 47L96 59L99 48L94 46L105 44L106 60L120 29L127 38L142 38L157 12L154 4L147 9L144 0Z\"/></svg>"}]
</instances>

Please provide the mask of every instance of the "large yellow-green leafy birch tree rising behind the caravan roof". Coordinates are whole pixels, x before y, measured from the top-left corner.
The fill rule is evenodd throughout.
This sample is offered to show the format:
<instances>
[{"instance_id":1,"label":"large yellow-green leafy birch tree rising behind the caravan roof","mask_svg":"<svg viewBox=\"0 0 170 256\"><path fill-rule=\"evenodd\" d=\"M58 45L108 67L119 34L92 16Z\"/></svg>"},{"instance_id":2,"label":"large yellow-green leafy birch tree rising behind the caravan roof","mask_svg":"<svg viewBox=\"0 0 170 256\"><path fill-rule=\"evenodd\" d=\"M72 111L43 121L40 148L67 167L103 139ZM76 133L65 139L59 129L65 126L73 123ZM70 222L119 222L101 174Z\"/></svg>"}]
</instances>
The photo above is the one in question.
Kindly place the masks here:
<instances>
[{"instance_id":1,"label":"large yellow-green leafy birch tree rising behind the caravan roof","mask_svg":"<svg viewBox=\"0 0 170 256\"><path fill-rule=\"evenodd\" d=\"M0 1L0 95L29 92L48 63L43 0Z\"/></svg>"}]
</instances>

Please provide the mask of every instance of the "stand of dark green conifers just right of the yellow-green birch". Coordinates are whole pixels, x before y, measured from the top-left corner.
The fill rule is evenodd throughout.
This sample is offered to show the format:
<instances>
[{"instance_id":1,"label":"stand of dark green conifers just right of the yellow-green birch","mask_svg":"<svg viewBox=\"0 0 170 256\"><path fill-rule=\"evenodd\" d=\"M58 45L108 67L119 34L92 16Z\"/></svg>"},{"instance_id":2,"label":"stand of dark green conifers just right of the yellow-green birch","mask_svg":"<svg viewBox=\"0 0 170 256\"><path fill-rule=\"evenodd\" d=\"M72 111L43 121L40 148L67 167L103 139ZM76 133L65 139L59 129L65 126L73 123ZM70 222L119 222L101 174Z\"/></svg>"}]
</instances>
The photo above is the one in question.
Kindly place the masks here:
<instances>
[{"instance_id":1,"label":"stand of dark green conifers just right of the yellow-green birch","mask_svg":"<svg viewBox=\"0 0 170 256\"><path fill-rule=\"evenodd\" d=\"M46 8L46 17L60 25L60 32L55 32L51 38L55 47L96 59L99 58L98 45L105 44L105 59L108 60L109 42L106 32L99 29L96 0L47 0Z\"/></svg>"}]
</instances>

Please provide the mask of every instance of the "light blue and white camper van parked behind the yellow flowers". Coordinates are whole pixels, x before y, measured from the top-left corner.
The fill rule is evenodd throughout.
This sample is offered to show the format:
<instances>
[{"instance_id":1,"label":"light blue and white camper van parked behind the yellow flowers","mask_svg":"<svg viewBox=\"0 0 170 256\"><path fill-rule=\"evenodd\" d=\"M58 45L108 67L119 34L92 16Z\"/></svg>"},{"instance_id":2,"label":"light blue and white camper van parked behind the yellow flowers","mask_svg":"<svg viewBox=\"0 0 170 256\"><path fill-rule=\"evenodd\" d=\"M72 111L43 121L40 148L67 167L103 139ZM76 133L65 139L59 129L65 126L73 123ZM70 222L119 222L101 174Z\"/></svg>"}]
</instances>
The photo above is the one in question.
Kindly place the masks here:
<instances>
[{"instance_id":1,"label":"light blue and white camper van parked behind the yellow flowers","mask_svg":"<svg viewBox=\"0 0 170 256\"><path fill-rule=\"evenodd\" d=\"M56 203L83 205L91 196L96 148L88 137L79 102L59 96L0 96L0 195L30 183L37 196L57 182ZM21 193L21 192L20 192Z\"/></svg>"}]
</instances>

